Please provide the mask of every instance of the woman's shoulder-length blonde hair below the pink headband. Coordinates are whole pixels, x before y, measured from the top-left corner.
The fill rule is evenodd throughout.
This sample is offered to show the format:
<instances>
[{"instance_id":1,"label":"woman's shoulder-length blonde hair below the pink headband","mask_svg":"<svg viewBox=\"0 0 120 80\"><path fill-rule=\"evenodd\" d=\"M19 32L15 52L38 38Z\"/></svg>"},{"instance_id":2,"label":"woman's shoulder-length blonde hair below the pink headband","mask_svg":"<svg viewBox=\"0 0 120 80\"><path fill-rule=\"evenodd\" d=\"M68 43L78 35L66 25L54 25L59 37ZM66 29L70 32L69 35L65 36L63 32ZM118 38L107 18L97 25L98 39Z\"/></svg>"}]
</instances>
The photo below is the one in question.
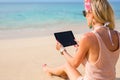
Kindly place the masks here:
<instances>
[{"instance_id":1,"label":"woman's shoulder-length blonde hair below the pink headband","mask_svg":"<svg viewBox=\"0 0 120 80\"><path fill-rule=\"evenodd\" d=\"M110 29L115 28L114 12L107 0L91 0L91 7L94 19L97 22L103 25L109 22L108 27Z\"/></svg>"}]
</instances>

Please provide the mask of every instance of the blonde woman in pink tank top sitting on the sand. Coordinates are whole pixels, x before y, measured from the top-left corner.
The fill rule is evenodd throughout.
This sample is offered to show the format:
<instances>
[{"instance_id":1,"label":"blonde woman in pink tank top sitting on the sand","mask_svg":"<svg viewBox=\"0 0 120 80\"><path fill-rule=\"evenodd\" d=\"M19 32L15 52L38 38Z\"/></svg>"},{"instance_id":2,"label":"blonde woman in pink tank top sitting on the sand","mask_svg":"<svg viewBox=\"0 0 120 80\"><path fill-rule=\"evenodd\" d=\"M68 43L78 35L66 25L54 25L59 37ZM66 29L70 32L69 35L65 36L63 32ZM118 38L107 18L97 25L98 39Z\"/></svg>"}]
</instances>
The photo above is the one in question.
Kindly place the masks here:
<instances>
[{"instance_id":1,"label":"blonde woman in pink tank top sitting on the sand","mask_svg":"<svg viewBox=\"0 0 120 80\"><path fill-rule=\"evenodd\" d=\"M107 0L85 0L84 16L92 32L85 33L78 43L74 56L58 42L66 63L58 68L47 65L43 69L51 74L70 80L115 80L115 66L120 52L120 33L115 31L114 13ZM76 69L84 64L85 75ZM67 75L67 76L66 76Z\"/></svg>"}]
</instances>

